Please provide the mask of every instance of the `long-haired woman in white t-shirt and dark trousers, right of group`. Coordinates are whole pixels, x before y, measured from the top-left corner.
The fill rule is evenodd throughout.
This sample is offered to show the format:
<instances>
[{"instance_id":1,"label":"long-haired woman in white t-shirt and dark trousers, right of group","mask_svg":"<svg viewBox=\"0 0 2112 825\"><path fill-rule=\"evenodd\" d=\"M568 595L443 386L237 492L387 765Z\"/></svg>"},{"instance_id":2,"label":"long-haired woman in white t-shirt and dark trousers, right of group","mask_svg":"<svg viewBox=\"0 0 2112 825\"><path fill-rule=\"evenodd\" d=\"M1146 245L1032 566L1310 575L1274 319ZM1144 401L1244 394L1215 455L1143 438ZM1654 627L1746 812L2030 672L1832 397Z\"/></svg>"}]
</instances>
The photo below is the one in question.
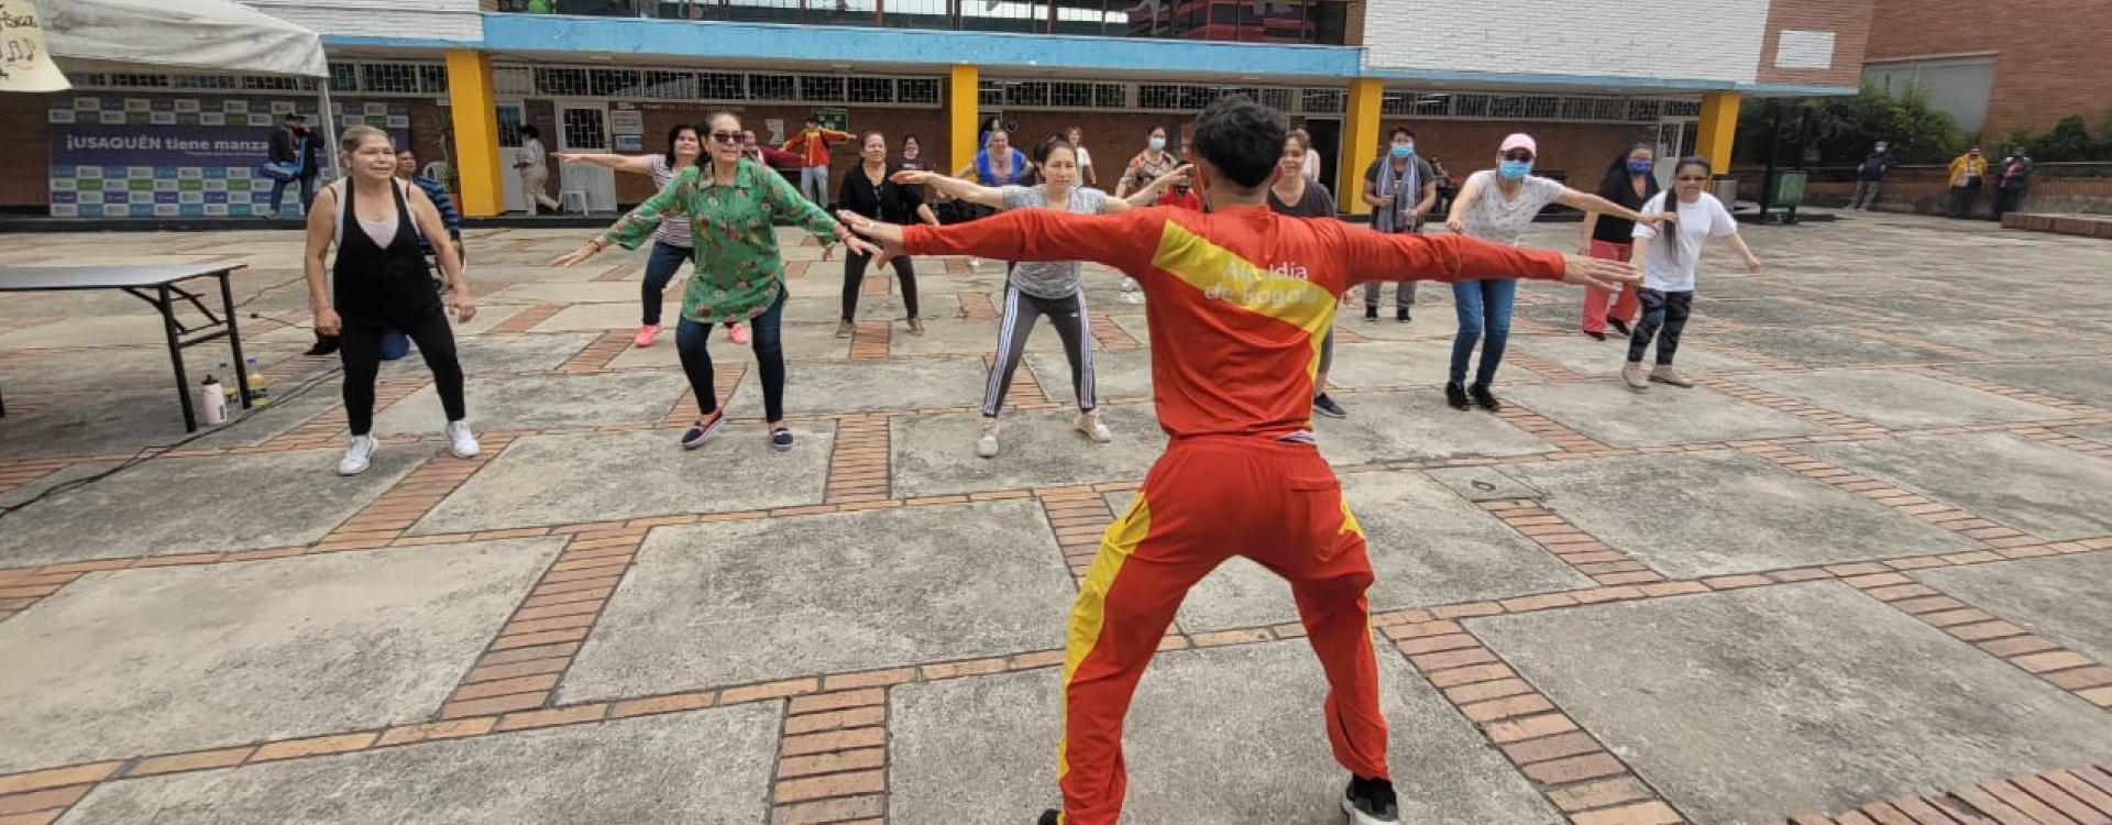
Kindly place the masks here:
<instances>
[{"instance_id":1,"label":"long-haired woman in white t-shirt and dark trousers, right of group","mask_svg":"<svg viewBox=\"0 0 2112 825\"><path fill-rule=\"evenodd\" d=\"M1694 310L1694 266L1700 264L1709 238L1730 238L1730 247L1745 255L1745 268L1759 272L1759 257L1753 257L1738 236L1738 222L1730 217L1730 209L1702 192L1709 175L1709 158L1681 158L1673 171L1673 188L1643 205L1643 215L1677 213L1671 238L1660 238L1660 230L1649 224L1635 224L1630 260L1643 270L1643 285L1637 289L1643 314L1628 338L1628 365L1620 367L1620 380L1633 390L1647 390L1649 382L1694 386L1673 371L1673 354L1679 352L1679 331L1687 327L1687 312ZM1666 198L1679 200L1666 207ZM1645 378L1643 350L1652 340L1658 342L1658 367Z\"/></svg>"}]
</instances>

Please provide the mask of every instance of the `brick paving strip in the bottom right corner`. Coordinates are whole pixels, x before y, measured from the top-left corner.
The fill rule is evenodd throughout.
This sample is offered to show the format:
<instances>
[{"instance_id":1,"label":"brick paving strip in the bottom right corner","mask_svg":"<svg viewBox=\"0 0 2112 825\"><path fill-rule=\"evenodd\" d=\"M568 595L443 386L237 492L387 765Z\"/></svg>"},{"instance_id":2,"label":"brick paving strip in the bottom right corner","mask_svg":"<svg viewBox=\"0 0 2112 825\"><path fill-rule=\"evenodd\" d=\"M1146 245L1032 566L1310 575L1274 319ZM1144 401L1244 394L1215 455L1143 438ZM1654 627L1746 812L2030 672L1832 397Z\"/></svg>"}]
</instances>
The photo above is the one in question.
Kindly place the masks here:
<instances>
[{"instance_id":1,"label":"brick paving strip in the bottom right corner","mask_svg":"<svg viewBox=\"0 0 2112 825\"><path fill-rule=\"evenodd\" d=\"M1783 825L1774 821L1770 825ZM1787 825L2106 825L2112 768L2080 766L2015 776L1947 793L1871 802L1840 817L1804 814Z\"/></svg>"}]
</instances>

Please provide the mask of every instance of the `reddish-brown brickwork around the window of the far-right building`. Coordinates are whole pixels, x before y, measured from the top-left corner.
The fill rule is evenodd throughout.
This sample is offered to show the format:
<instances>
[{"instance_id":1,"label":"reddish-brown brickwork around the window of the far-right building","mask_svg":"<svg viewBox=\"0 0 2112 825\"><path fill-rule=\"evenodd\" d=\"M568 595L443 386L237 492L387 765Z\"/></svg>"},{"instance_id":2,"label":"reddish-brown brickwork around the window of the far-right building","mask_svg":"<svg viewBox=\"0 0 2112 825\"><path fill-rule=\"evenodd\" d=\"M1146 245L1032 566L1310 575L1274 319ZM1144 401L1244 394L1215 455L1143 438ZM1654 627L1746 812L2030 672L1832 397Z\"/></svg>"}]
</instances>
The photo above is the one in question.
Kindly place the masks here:
<instances>
[{"instance_id":1,"label":"reddish-brown brickwork around the window of the far-right building","mask_svg":"<svg viewBox=\"0 0 2112 825\"><path fill-rule=\"evenodd\" d=\"M1869 59L1994 51L1985 135L2047 129L2070 114L2091 124L2112 112L2112 49L2101 2L1878 0ZM2078 25L2095 15L2097 25Z\"/></svg>"}]
</instances>

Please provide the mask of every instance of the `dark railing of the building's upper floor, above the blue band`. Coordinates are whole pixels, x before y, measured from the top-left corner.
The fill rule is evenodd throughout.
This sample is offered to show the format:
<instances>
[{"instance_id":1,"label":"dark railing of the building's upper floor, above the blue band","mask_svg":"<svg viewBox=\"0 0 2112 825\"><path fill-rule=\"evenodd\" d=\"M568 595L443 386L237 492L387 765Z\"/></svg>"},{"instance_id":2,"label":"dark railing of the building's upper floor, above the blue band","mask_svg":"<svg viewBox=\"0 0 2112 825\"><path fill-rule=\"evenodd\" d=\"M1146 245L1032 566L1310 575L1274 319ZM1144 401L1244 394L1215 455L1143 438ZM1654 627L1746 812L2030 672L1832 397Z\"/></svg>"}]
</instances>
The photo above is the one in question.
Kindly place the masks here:
<instances>
[{"instance_id":1,"label":"dark railing of the building's upper floor, above the blue band","mask_svg":"<svg viewBox=\"0 0 2112 825\"><path fill-rule=\"evenodd\" d=\"M1343 44L1347 0L498 0L503 13Z\"/></svg>"}]
</instances>

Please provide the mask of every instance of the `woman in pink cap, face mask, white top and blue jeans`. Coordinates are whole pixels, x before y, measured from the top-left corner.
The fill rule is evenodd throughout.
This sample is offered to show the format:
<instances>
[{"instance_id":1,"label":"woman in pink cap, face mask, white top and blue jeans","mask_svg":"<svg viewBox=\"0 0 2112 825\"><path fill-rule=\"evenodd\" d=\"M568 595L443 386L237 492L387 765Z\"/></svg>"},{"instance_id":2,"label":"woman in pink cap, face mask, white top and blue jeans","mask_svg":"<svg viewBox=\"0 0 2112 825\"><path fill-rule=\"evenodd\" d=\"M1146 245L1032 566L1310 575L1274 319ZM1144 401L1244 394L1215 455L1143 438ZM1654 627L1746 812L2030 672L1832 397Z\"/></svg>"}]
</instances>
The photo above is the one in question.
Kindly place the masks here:
<instances>
[{"instance_id":1,"label":"woman in pink cap, face mask, white top and blue jeans","mask_svg":"<svg viewBox=\"0 0 2112 825\"><path fill-rule=\"evenodd\" d=\"M1497 167L1468 175L1445 226L1481 241L1516 247L1525 238L1525 228L1550 203L1649 226L1666 219L1664 215L1639 215L1597 194L1535 177L1535 154L1540 154L1540 146L1533 143L1531 135L1516 133L1504 137L1504 146L1495 158ZM1519 283L1508 279L1453 283L1453 310L1459 314L1459 333L1453 335L1451 380L1445 384L1445 401L1453 409L1468 409L1468 397L1489 411L1504 407L1489 392L1489 382L1495 380L1495 369L1504 365L1504 344L1510 340L1510 304L1516 293ZM1481 369L1474 371L1474 384L1466 384L1466 365L1474 357L1474 344L1483 335L1487 335L1489 344L1481 350Z\"/></svg>"}]
</instances>

